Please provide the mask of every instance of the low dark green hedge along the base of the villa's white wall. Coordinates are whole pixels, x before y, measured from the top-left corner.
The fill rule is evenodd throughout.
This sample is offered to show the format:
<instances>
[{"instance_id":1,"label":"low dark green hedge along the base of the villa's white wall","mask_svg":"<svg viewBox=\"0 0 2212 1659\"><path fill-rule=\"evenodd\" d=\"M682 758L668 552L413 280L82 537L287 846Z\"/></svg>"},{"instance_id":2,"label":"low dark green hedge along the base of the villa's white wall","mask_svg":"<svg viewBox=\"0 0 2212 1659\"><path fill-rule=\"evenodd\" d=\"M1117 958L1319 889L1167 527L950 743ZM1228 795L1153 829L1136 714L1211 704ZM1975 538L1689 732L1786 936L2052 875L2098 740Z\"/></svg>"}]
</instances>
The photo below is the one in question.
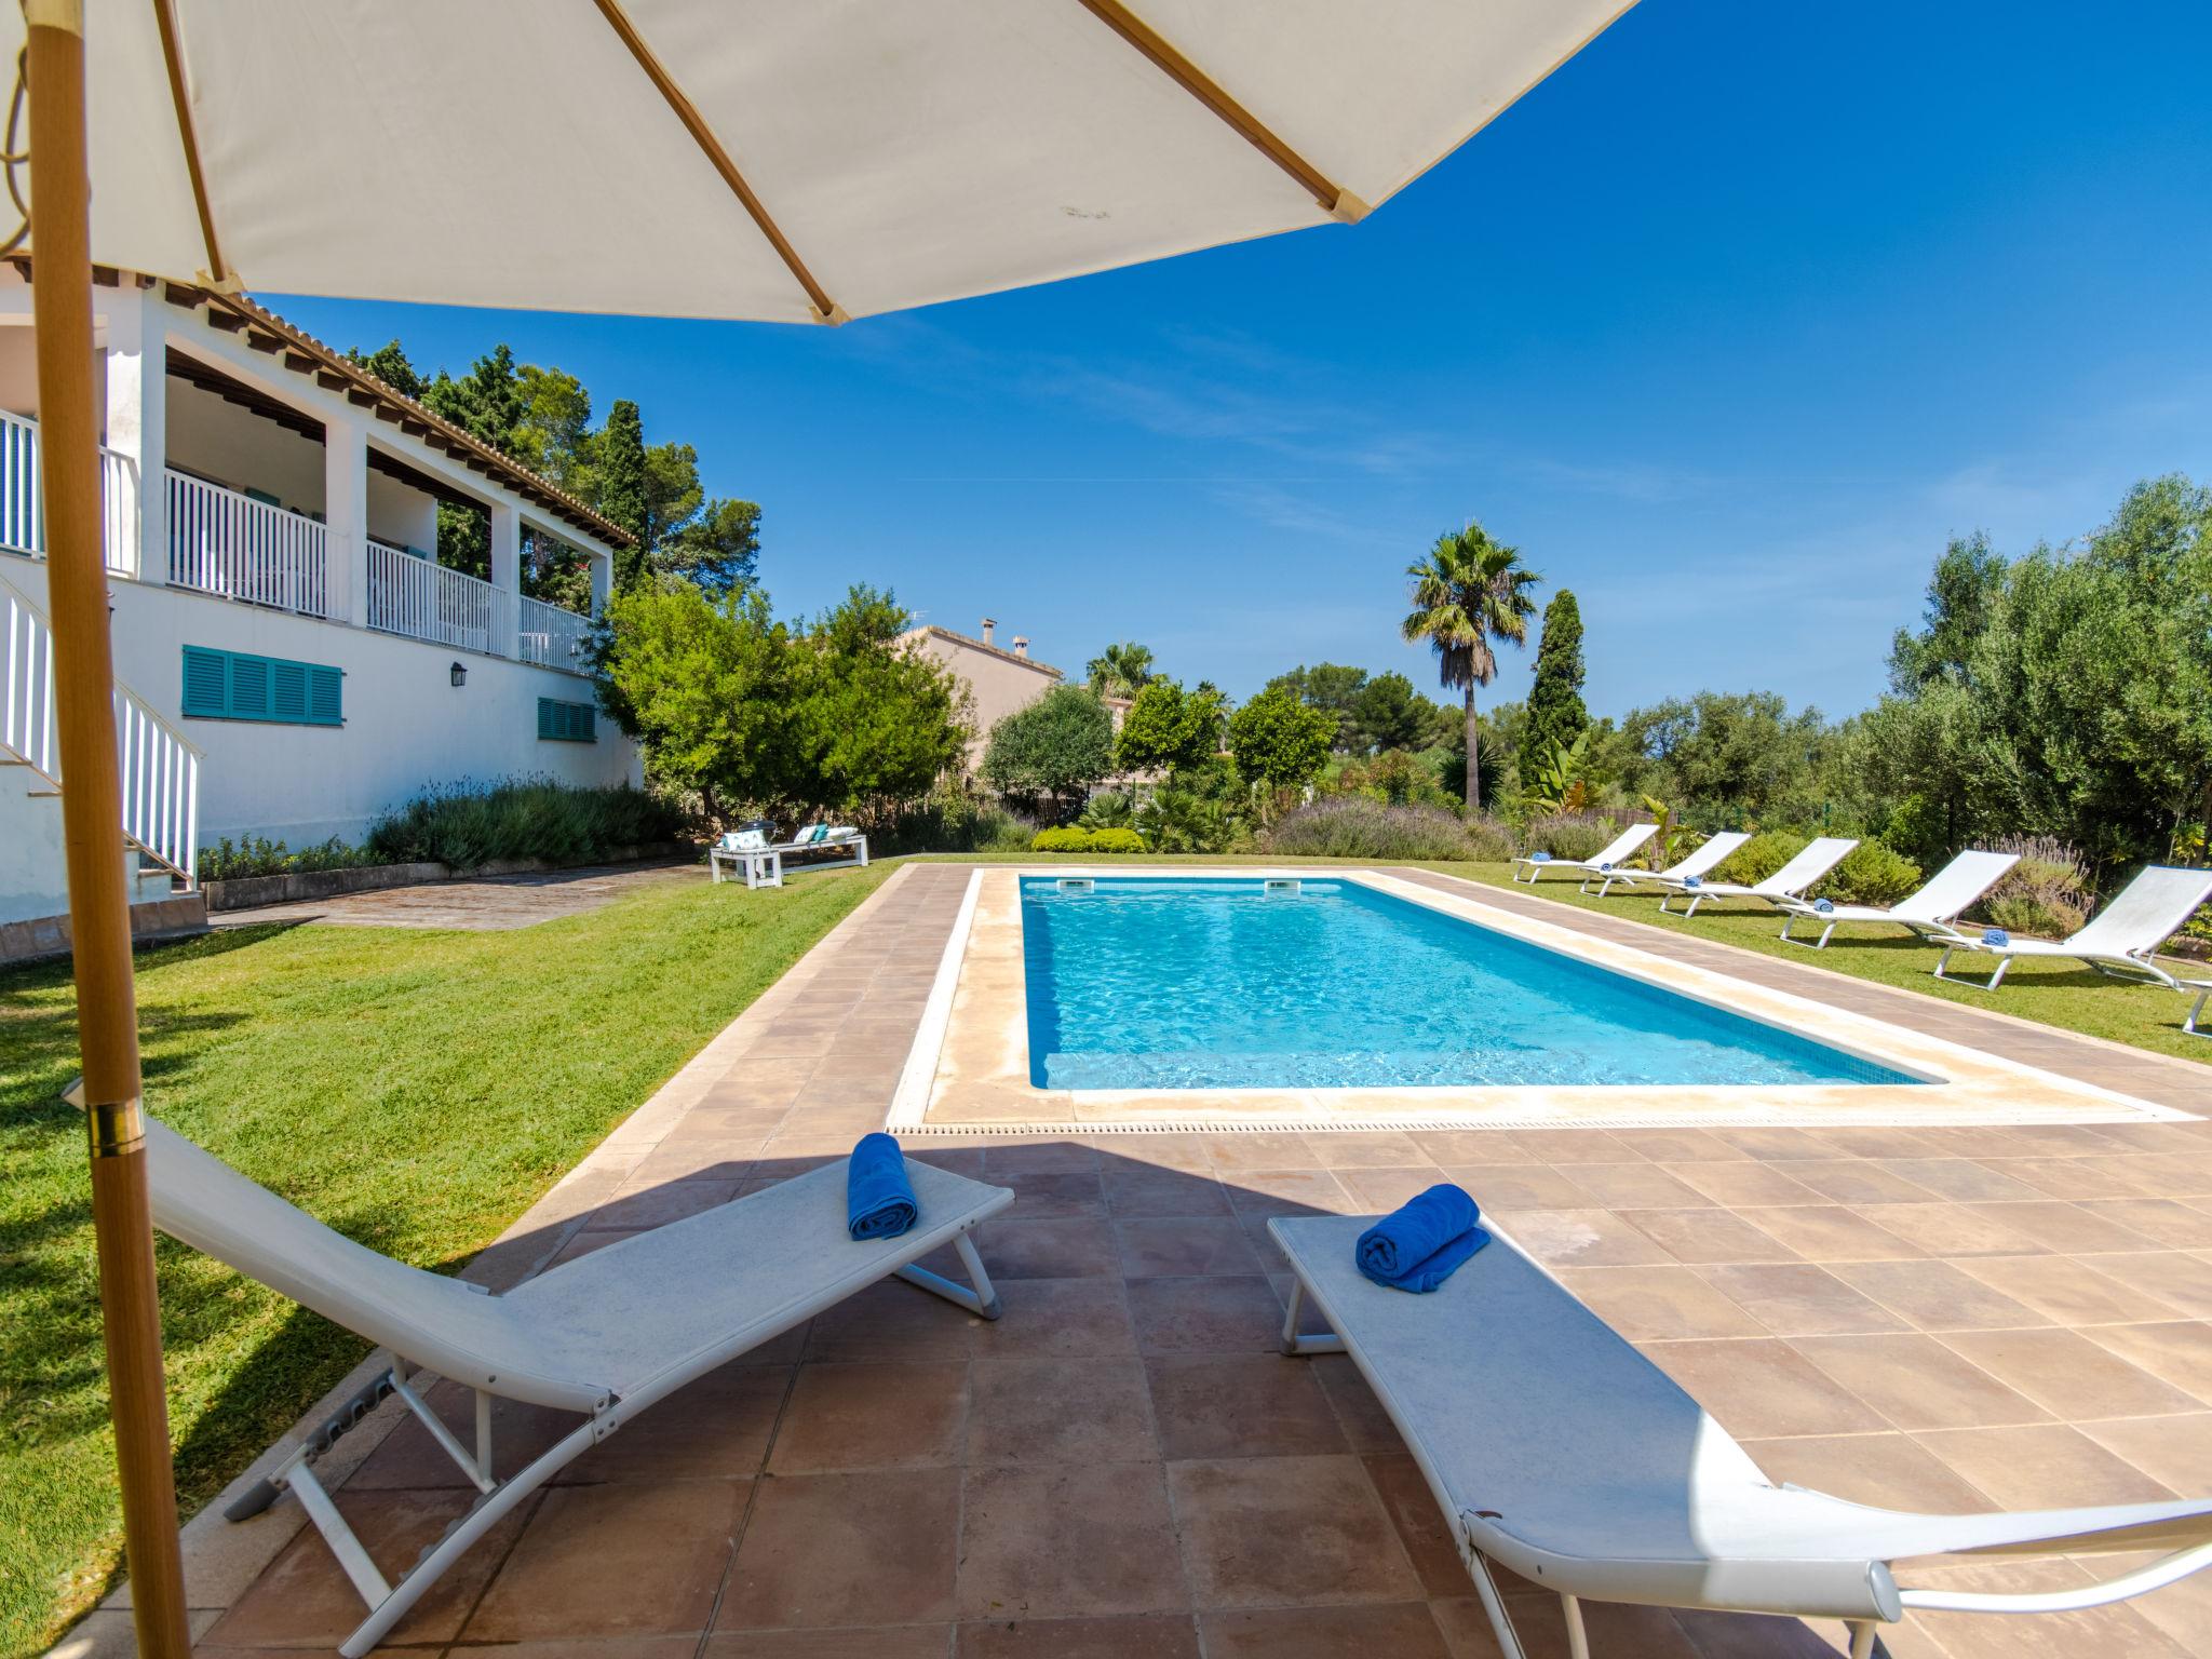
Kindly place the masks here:
<instances>
[{"instance_id":1,"label":"low dark green hedge along the base of the villa's white wall","mask_svg":"<svg viewBox=\"0 0 2212 1659\"><path fill-rule=\"evenodd\" d=\"M584 790L553 779L427 790L369 827L374 863L436 860L476 869L511 858L588 865L624 847L675 841L681 814L664 799L617 785Z\"/></svg>"}]
</instances>

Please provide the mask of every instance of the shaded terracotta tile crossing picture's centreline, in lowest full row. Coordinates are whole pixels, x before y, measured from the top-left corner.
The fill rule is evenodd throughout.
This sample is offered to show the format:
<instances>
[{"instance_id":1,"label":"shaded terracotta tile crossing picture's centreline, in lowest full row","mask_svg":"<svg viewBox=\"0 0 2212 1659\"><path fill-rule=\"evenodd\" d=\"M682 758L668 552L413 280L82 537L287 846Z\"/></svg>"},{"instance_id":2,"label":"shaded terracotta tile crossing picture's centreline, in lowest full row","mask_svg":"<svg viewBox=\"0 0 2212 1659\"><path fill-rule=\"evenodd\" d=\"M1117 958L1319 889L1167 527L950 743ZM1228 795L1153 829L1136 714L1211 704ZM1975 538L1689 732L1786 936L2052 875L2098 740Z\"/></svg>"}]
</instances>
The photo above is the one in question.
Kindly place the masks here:
<instances>
[{"instance_id":1,"label":"shaded terracotta tile crossing picture's centreline, in lowest full row","mask_svg":"<svg viewBox=\"0 0 2212 1659\"><path fill-rule=\"evenodd\" d=\"M1188 1606L1161 1464L967 1473L960 1617L1091 1617Z\"/></svg>"}]
</instances>

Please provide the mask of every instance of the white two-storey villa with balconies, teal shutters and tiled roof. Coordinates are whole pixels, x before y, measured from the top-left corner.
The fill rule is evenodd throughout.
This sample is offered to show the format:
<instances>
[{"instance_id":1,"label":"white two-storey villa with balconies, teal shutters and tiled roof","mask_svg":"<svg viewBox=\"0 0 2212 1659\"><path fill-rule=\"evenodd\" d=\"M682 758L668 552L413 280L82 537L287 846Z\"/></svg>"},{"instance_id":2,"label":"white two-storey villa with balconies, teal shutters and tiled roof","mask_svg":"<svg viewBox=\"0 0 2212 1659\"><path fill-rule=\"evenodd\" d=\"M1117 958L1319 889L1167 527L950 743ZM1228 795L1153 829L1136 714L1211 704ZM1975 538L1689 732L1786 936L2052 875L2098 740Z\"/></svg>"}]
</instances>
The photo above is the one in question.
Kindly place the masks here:
<instances>
[{"instance_id":1,"label":"white two-storey villa with balconies, teal shutters and tiled roof","mask_svg":"<svg viewBox=\"0 0 2212 1659\"><path fill-rule=\"evenodd\" d=\"M628 535L252 301L102 270L102 480L135 898L217 836L356 836L425 785L637 781L580 661L522 595L526 546ZM0 268L0 925L69 909L38 500L31 261ZM484 511L491 580L438 564Z\"/></svg>"}]
</instances>

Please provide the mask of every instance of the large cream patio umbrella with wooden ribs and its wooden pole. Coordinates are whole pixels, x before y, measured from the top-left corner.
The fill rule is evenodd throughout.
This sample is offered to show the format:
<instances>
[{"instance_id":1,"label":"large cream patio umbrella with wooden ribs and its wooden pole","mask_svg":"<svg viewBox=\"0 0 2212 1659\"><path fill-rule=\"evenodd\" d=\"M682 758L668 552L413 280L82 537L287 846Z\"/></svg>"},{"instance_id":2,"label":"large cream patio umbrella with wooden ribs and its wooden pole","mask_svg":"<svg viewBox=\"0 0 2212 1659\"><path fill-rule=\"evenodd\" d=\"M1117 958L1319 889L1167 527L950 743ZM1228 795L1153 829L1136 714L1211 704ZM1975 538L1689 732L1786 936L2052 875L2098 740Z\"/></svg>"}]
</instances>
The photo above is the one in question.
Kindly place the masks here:
<instances>
[{"instance_id":1,"label":"large cream patio umbrella with wooden ribs and its wooden pole","mask_svg":"<svg viewBox=\"0 0 2212 1659\"><path fill-rule=\"evenodd\" d=\"M181 1659L186 1632L91 265L843 323L1356 221L1630 2L22 0L69 898L142 1652Z\"/></svg>"}]
</instances>

